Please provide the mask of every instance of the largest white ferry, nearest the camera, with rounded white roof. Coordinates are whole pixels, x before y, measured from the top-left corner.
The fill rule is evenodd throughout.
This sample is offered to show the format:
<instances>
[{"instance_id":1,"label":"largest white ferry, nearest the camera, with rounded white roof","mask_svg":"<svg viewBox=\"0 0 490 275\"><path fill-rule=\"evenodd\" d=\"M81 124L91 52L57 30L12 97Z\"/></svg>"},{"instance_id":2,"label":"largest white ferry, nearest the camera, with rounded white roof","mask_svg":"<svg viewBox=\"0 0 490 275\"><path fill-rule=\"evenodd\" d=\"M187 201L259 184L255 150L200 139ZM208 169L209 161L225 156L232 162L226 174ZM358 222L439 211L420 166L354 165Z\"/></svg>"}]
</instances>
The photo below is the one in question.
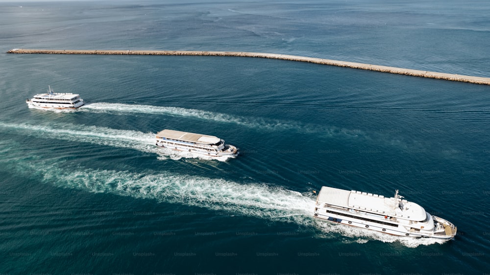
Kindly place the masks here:
<instances>
[{"instance_id":1,"label":"largest white ferry, nearest the camera, with rounded white roof","mask_svg":"<svg viewBox=\"0 0 490 275\"><path fill-rule=\"evenodd\" d=\"M393 198L385 198L323 186L314 215L331 222L397 236L449 240L456 235L457 228L453 224L402 198L398 190Z\"/></svg>"}]
</instances>

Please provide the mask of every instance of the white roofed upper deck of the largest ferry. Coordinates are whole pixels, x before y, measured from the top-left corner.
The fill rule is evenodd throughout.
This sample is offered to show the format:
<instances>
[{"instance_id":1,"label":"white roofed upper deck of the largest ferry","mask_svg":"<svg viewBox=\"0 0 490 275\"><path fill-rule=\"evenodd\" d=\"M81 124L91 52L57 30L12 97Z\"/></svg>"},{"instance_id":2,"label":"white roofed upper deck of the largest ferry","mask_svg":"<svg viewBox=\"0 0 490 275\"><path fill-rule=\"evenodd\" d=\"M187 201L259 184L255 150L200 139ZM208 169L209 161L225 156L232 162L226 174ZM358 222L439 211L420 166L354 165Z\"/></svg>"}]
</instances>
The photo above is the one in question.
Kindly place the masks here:
<instances>
[{"instance_id":1,"label":"white roofed upper deck of the largest ferry","mask_svg":"<svg viewBox=\"0 0 490 275\"><path fill-rule=\"evenodd\" d=\"M382 195L348 191L328 186L321 187L318 205L340 206L392 217L423 221L427 214L422 206L406 200L385 198Z\"/></svg>"}]
</instances>

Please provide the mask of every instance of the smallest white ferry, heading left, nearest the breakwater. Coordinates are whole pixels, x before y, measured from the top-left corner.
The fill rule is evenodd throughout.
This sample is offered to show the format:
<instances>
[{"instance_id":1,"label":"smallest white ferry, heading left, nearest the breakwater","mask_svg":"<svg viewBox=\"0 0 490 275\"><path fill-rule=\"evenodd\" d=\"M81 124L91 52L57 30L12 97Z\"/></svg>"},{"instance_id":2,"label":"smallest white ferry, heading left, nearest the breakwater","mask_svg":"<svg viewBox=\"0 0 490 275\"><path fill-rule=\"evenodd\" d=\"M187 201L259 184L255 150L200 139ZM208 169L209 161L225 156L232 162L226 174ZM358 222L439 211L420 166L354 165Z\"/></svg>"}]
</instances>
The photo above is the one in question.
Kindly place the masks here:
<instances>
[{"instance_id":1,"label":"smallest white ferry, heading left, nearest the breakwater","mask_svg":"<svg viewBox=\"0 0 490 275\"><path fill-rule=\"evenodd\" d=\"M34 98L25 100L29 108L75 109L84 104L79 94L54 93L51 86L48 87L47 93L39 93L34 95Z\"/></svg>"}]
</instances>

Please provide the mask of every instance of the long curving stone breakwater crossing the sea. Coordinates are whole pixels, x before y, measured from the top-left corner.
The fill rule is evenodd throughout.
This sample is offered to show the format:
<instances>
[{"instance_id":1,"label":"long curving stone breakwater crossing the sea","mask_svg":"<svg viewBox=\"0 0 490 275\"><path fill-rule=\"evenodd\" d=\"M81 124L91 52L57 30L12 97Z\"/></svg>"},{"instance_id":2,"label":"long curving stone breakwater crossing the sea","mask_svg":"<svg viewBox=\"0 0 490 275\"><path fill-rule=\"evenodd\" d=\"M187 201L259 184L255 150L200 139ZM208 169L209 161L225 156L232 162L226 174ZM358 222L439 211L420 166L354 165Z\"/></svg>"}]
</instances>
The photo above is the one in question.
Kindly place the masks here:
<instances>
[{"instance_id":1,"label":"long curving stone breakwater crossing the sea","mask_svg":"<svg viewBox=\"0 0 490 275\"><path fill-rule=\"evenodd\" d=\"M111 54L111 55L204 55L204 56L240 56L272 58L290 61L310 62L322 65L348 67L353 69L366 69L396 74L412 75L451 81L468 82L474 84L490 85L490 78L460 74L450 74L433 71L423 71L416 69L403 69L388 66L371 65L364 63L346 62L323 58L313 58L286 54L260 53L260 52L239 52L239 51L177 51L177 50L56 50L56 49L12 49L7 53L17 54Z\"/></svg>"}]
</instances>

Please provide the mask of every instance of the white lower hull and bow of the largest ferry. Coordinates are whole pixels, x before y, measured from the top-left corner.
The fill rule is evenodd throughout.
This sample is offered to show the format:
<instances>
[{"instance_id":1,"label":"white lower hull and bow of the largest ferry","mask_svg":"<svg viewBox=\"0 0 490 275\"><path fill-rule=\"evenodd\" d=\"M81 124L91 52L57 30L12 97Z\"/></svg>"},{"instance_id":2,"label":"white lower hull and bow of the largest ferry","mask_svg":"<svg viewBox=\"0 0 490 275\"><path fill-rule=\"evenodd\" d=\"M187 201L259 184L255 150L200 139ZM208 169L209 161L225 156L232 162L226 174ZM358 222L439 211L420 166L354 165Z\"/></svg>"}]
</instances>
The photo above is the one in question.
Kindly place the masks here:
<instances>
[{"instance_id":1,"label":"white lower hull and bow of the largest ferry","mask_svg":"<svg viewBox=\"0 0 490 275\"><path fill-rule=\"evenodd\" d=\"M321 209L321 211L320 211ZM342 213L335 214L332 212L327 213L326 209L331 210L332 212ZM349 215L347 217L345 215ZM355 211L345 211L340 209L334 209L329 207L321 207L316 208L315 217L323 220L328 220L334 223L359 227L363 229L375 230L378 232L396 235L396 236L406 236L406 237L415 237L415 238L437 238L443 240L449 240L454 237L456 234L456 227L454 227L448 221L441 219L436 216L432 216L434 221L436 222L436 226L433 230L422 230L413 229L410 225L399 224L395 222L390 222L389 219L376 219L369 215L369 213L359 212L356 214ZM446 226L444 226L444 224ZM450 229L454 227L454 229Z\"/></svg>"}]
</instances>

